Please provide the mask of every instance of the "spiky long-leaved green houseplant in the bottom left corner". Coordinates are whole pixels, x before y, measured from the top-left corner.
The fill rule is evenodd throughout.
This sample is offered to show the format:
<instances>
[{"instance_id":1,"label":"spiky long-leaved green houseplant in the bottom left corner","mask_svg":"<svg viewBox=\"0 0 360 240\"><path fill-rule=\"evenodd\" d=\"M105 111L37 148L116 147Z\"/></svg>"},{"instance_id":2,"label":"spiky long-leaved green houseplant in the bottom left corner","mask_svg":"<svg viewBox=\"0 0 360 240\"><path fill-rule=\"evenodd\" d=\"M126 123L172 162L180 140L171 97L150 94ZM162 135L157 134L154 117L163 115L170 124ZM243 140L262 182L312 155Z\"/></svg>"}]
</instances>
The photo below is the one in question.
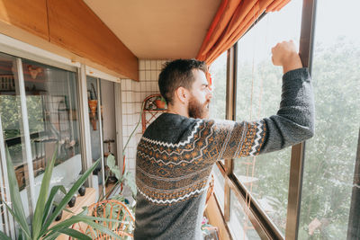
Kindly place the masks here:
<instances>
[{"instance_id":1,"label":"spiky long-leaved green houseplant in the bottom left corner","mask_svg":"<svg viewBox=\"0 0 360 240\"><path fill-rule=\"evenodd\" d=\"M71 187L71 189L67 192L67 194L59 201L56 208L52 211L54 204L55 195L57 192L65 191L64 186L56 185L51 188L49 191L49 183L51 179L52 170L54 168L55 160L58 154L58 147L51 157L49 164L45 168L45 173L43 179L41 181L40 186L40 194L39 199L36 203L35 212L31 219L31 227L27 223L27 219L25 217L25 212L23 209L22 199L20 197L19 186L16 181L16 176L14 172L14 166L12 164L12 160L9 154L8 149L6 149L6 166L8 171L8 180L9 180L9 190L10 196L12 200L12 208L6 203L4 200L3 203L6 209L9 210L10 214L14 217L14 220L19 225L19 236L18 239L26 239L26 240L49 240L56 239L60 234L65 234L67 236L72 236L78 239L91 239L89 236L85 236L84 234L76 231L75 229L71 229L73 224L78 222L84 222L85 224L94 227L108 236L112 236L114 238L119 238L116 234L112 233L112 231L102 225L94 223L94 220L102 220L102 221L113 221L112 219L107 218L94 218L91 216L86 216L87 209L84 209L78 215L74 215L71 218L67 218L64 221L58 223L57 225L50 227L51 223L58 217L58 215L62 212L63 209L67 206L67 203L74 196L75 192L83 185L87 177L94 171L94 168L97 164L99 164L100 159L98 159L93 166L91 166ZM9 236L6 236L3 232L0 231L0 239L11 239Z\"/></svg>"}]
</instances>

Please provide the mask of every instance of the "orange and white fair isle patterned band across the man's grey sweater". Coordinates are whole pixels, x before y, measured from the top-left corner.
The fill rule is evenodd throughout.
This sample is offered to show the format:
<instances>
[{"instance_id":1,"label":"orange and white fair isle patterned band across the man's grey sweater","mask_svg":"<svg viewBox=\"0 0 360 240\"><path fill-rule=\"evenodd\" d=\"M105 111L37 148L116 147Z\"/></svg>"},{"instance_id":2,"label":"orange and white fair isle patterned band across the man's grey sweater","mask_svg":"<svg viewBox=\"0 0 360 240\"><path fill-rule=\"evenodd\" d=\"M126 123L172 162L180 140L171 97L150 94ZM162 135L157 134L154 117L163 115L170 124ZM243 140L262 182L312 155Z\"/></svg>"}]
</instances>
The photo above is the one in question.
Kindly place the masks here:
<instances>
[{"instance_id":1,"label":"orange and white fair isle patterned band across the man's grey sweater","mask_svg":"<svg viewBox=\"0 0 360 240\"><path fill-rule=\"evenodd\" d=\"M137 152L138 191L153 204L171 205L207 190L215 161L256 156L266 138L266 122L193 120L178 143L142 137ZM156 124L156 123L155 123Z\"/></svg>"}]
</instances>

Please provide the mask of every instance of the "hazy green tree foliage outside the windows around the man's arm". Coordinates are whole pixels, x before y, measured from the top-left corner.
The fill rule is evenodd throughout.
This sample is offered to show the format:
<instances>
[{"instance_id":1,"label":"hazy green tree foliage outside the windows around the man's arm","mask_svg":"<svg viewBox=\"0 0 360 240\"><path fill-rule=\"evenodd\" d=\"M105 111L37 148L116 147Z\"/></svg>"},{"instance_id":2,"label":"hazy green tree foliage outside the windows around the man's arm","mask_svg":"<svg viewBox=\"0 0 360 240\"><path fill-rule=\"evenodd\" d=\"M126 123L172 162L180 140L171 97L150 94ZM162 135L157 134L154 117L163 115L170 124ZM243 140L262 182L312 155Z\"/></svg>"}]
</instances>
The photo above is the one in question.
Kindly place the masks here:
<instances>
[{"instance_id":1,"label":"hazy green tree foliage outside the windows around the man's arm","mask_svg":"<svg viewBox=\"0 0 360 240\"><path fill-rule=\"evenodd\" d=\"M316 133L306 144L299 239L347 238L360 122L359 59L359 48L344 38L329 47L315 45L311 76ZM256 120L275 114L280 103L281 76L281 70L269 62L259 63L254 72L251 64L238 66L237 119ZM272 207L268 215L283 232L290 150L257 156L255 160L238 159L234 169L238 177L251 176L252 166L248 169L245 163L255 161L257 181L251 186L252 193ZM321 227L309 234L315 218Z\"/></svg>"}]
</instances>

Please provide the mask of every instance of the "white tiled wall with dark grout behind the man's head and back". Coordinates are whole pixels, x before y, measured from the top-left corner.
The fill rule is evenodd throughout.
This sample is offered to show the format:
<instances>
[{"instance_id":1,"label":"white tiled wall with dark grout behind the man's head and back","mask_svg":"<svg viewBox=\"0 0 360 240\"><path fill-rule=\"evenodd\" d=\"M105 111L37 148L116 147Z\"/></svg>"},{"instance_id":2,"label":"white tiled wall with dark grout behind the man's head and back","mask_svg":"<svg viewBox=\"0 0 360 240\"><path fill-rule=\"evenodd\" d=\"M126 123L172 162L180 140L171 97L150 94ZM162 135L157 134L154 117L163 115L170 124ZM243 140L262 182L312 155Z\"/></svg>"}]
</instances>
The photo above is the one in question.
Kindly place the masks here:
<instances>
[{"instance_id":1,"label":"white tiled wall with dark grout behind the man's head and back","mask_svg":"<svg viewBox=\"0 0 360 240\"><path fill-rule=\"evenodd\" d=\"M142 101L150 94L159 93L157 79L166 60L139 59L139 82L121 79L122 140L125 146L139 121ZM141 123L125 150L127 170L135 173L136 147L141 138Z\"/></svg>"}]
</instances>

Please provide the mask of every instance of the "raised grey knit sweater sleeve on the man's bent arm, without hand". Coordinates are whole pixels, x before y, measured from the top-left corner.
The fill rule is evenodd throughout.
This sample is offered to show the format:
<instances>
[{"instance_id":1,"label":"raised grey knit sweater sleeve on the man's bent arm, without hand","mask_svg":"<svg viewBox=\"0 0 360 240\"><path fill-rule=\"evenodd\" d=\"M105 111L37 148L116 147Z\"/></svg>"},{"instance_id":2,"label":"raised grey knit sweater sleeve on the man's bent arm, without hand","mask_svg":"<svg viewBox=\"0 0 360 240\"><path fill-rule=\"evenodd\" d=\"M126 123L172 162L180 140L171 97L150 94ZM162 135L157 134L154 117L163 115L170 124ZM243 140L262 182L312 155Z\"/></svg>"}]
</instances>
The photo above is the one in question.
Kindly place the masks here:
<instances>
[{"instance_id":1,"label":"raised grey knit sweater sleeve on the man's bent arm, without hand","mask_svg":"<svg viewBox=\"0 0 360 240\"><path fill-rule=\"evenodd\" d=\"M212 160L257 156L300 143L314 134L314 101L306 68L283 76L282 100L276 115L256 121L204 121L210 131Z\"/></svg>"}]
</instances>

